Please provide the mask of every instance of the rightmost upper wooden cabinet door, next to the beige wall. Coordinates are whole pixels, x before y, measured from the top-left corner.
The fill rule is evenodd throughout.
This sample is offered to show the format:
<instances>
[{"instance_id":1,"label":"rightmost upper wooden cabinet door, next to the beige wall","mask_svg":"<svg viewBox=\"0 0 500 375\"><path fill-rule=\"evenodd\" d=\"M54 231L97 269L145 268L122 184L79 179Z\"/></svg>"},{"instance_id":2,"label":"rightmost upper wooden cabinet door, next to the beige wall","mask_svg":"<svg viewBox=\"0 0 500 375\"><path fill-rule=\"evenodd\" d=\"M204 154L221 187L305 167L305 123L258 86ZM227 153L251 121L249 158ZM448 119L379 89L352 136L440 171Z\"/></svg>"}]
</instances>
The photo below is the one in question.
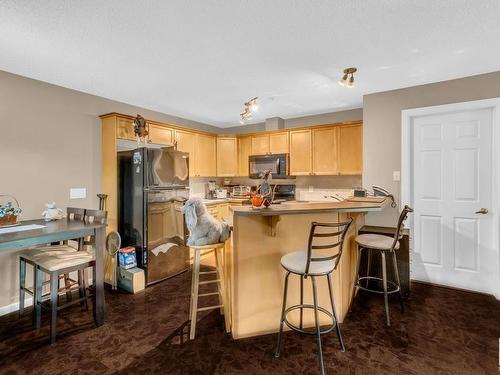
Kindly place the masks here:
<instances>
[{"instance_id":1,"label":"rightmost upper wooden cabinet door, next to the beige wall","mask_svg":"<svg viewBox=\"0 0 500 375\"><path fill-rule=\"evenodd\" d=\"M363 127L342 125L339 127L339 173L358 175L363 172Z\"/></svg>"}]
</instances>

